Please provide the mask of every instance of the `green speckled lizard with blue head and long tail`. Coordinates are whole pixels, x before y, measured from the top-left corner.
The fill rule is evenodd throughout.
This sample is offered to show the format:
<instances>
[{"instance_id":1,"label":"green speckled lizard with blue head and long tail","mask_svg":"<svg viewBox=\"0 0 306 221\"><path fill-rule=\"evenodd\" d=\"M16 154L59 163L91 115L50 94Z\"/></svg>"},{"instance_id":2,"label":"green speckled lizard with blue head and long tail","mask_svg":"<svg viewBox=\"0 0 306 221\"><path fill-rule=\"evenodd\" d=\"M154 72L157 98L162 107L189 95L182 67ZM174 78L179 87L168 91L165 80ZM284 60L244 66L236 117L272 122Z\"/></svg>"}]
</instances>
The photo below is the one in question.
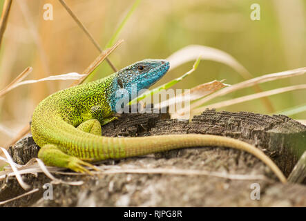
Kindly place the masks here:
<instances>
[{"instance_id":1,"label":"green speckled lizard with blue head and long tail","mask_svg":"<svg viewBox=\"0 0 306 221\"><path fill-rule=\"evenodd\" d=\"M260 149L230 137L183 134L149 137L105 137L102 126L117 119L116 105L124 89L131 99L132 84L137 93L149 88L169 70L169 61L144 59L97 81L80 84L49 95L32 115L31 133L40 147L38 157L48 166L59 166L79 173L98 170L93 162L146 155L177 148L225 146L247 151L274 171L281 182L286 177ZM87 166L87 167L86 167Z\"/></svg>"}]
</instances>

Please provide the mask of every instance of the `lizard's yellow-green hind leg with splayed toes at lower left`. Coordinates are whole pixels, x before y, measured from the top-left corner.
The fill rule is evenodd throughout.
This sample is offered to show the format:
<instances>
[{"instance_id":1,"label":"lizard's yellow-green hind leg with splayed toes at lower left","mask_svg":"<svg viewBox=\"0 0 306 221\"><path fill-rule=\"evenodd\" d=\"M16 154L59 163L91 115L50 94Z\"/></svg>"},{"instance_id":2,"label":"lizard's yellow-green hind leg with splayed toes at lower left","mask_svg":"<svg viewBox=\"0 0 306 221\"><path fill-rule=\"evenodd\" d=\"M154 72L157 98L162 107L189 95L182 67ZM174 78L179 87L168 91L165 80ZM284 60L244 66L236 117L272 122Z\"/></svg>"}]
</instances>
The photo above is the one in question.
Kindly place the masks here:
<instances>
[{"instance_id":1,"label":"lizard's yellow-green hind leg with splayed toes at lower left","mask_svg":"<svg viewBox=\"0 0 306 221\"><path fill-rule=\"evenodd\" d=\"M93 175L88 169L84 166L88 166L95 171L99 171L95 166L79 160L77 157L70 156L63 151L61 151L54 144L44 145L38 152L38 157L41 159L47 166L59 166L71 169L80 173L88 173Z\"/></svg>"}]
</instances>

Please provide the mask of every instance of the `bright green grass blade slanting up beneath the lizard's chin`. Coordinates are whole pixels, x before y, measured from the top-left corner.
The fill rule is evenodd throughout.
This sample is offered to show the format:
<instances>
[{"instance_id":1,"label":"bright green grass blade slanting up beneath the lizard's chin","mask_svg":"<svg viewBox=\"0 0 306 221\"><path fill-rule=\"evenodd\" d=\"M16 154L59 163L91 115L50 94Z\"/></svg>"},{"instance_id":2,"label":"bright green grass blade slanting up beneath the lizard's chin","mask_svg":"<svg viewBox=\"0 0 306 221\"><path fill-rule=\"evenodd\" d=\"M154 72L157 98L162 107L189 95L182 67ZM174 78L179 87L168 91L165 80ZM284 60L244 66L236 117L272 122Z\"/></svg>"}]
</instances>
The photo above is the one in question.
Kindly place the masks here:
<instances>
[{"instance_id":1,"label":"bright green grass blade slanting up beneath the lizard's chin","mask_svg":"<svg viewBox=\"0 0 306 221\"><path fill-rule=\"evenodd\" d=\"M142 95L140 95L139 97L136 97L135 99L133 99L131 102L129 102L128 104L135 104L137 102L139 102L140 100L154 95L155 93L159 92L160 90L166 90L167 88L171 88L173 85L178 84L178 82L182 81L182 79L184 79L185 77L187 77L188 75L190 75L191 73L193 73L193 71L195 71L201 61L201 57L198 57L198 59L195 61L195 64L193 64L193 68L191 70L189 70L187 73L185 73L184 75L182 75L181 77L175 78L172 81L167 82L166 84L163 84L162 86L159 86L157 88L153 88L152 90L147 91L146 93L143 93Z\"/></svg>"}]
</instances>

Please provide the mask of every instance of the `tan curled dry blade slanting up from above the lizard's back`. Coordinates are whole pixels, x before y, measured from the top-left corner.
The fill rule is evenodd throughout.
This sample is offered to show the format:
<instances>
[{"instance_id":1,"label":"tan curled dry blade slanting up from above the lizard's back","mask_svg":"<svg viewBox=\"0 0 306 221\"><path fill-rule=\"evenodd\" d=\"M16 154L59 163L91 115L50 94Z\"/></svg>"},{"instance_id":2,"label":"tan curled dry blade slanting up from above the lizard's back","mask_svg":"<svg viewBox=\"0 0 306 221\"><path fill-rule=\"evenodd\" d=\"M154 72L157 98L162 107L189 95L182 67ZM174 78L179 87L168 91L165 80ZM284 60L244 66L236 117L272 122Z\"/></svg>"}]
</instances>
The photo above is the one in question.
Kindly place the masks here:
<instances>
[{"instance_id":1,"label":"tan curled dry blade slanting up from above the lizard's back","mask_svg":"<svg viewBox=\"0 0 306 221\"><path fill-rule=\"evenodd\" d=\"M95 61L93 61L92 64L90 64L90 66L88 66L88 68L86 68L86 70L84 70L84 72L82 73L84 75L84 77L80 78L79 80L73 82L73 84L71 84L71 86L75 86L78 84L82 84L82 82L84 82L86 80L86 78L90 75L90 73L93 73L93 70L95 70L95 68L97 68L97 66L99 66L99 64L102 63L102 61L104 61L104 59L106 59L108 57L108 55L111 54L111 52L113 52L113 50L115 50L120 44L122 44L124 40L120 39L119 41L117 41L116 44L114 44L113 47L111 48L107 48L106 50L104 50L96 59Z\"/></svg>"}]
</instances>

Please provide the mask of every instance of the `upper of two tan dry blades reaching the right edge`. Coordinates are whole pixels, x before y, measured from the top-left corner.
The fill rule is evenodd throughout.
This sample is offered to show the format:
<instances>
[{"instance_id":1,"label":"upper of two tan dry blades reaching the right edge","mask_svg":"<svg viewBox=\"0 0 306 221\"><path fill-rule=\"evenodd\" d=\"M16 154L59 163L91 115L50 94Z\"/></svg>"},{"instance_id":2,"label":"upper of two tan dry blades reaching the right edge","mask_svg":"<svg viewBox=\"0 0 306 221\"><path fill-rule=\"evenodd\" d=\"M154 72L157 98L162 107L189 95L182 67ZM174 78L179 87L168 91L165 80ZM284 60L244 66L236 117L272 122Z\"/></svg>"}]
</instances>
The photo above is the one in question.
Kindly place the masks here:
<instances>
[{"instance_id":1,"label":"upper of two tan dry blades reaching the right edge","mask_svg":"<svg viewBox=\"0 0 306 221\"><path fill-rule=\"evenodd\" d=\"M228 93L231 93L233 91L236 90L240 90L242 88L247 88L249 86L254 86L256 84L260 84L263 82L267 82L267 81L274 81L276 79L283 79L286 77L294 77L294 76L298 76L298 75L303 75L306 73L306 68L297 68L294 70L286 70L280 73L273 73L273 74L268 74L268 75L262 75L260 77L255 77L253 79L249 79L247 81L242 81L238 84L233 84L232 86L229 86L227 88L223 88L219 91L217 91L216 93L213 93L212 95L209 95L207 97L204 97L202 99L200 99L198 102L195 102L193 104L191 104L191 109L196 108L206 102L209 102L211 99L215 98L215 97L220 97L222 95L227 95Z\"/></svg>"}]
</instances>

